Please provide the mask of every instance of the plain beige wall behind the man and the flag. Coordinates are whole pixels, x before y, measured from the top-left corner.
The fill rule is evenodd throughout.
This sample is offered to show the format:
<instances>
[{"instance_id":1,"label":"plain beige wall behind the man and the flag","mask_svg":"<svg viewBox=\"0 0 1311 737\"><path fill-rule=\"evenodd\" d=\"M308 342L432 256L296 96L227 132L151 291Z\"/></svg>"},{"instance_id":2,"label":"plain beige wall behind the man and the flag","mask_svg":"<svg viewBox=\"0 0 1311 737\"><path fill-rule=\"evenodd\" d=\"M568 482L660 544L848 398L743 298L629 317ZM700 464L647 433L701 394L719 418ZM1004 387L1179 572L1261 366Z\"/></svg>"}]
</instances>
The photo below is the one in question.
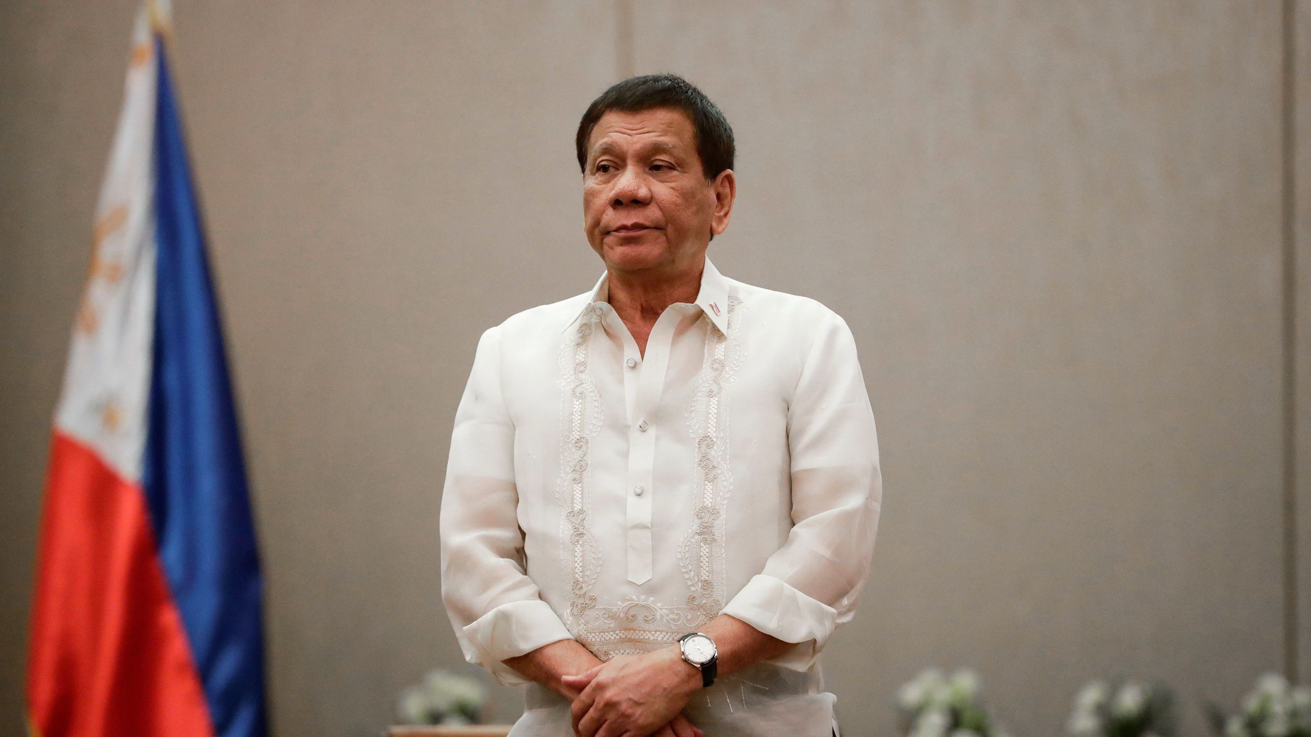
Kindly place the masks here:
<instances>
[{"instance_id":1,"label":"plain beige wall behind the man and the flag","mask_svg":"<svg viewBox=\"0 0 1311 737\"><path fill-rule=\"evenodd\" d=\"M1172 683L1200 736L1198 696L1232 703L1282 666L1286 573L1306 675L1307 5L1286 84L1273 1L176 0L275 733L375 734L400 687L459 657L435 538L455 403L481 329L599 273L572 136L635 71L684 73L734 126L716 264L856 332L885 505L865 603L826 658L850 734L891 734L920 667L969 665L1017 737L1062 732L1079 685L1117 673ZM134 8L0 5L3 734Z\"/></svg>"}]
</instances>

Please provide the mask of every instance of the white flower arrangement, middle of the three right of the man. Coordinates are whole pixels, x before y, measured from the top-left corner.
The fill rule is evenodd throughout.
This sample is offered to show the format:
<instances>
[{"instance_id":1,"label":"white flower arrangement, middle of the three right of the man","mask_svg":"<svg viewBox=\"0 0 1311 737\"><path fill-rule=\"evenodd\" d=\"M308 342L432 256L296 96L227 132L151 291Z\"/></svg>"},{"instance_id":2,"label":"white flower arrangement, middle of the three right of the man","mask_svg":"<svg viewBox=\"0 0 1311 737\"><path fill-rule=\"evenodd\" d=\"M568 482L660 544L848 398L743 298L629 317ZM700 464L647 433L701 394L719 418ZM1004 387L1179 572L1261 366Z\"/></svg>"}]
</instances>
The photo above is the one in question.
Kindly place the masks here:
<instances>
[{"instance_id":1,"label":"white flower arrangement, middle of the three right of the man","mask_svg":"<svg viewBox=\"0 0 1311 737\"><path fill-rule=\"evenodd\" d=\"M1171 737L1173 695L1159 683L1089 681L1074 698L1070 737Z\"/></svg>"}]
</instances>

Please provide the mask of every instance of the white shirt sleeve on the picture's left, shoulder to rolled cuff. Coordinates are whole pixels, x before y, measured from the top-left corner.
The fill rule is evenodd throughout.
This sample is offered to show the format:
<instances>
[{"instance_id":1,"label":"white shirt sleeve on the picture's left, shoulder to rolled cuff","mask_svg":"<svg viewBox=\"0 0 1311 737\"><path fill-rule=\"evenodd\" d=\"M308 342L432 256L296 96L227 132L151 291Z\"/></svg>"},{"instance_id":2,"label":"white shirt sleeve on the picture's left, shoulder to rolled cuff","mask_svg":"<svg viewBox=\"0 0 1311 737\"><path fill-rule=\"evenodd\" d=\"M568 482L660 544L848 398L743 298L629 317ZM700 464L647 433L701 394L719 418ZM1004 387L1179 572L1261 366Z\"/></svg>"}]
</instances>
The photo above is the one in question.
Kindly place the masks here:
<instances>
[{"instance_id":1,"label":"white shirt sleeve on the picture's left, shoulder to rolled cuff","mask_svg":"<svg viewBox=\"0 0 1311 737\"><path fill-rule=\"evenodd\" d=\"M439 522L442 601L465 660L506 685L527 679L502 660L572 639L524 574L518 500L499 332L490 328L479 340L451 433Z\"/></svg>"}]
</instances>

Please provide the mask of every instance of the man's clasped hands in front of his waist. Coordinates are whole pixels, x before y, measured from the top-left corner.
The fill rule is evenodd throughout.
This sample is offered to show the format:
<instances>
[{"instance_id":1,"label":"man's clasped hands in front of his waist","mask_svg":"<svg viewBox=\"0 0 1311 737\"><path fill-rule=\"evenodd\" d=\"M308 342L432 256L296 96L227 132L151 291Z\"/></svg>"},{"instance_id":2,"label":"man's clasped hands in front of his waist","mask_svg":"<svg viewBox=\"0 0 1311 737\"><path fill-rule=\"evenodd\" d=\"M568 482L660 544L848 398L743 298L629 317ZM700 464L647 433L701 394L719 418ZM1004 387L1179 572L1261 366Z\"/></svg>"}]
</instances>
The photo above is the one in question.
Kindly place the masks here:
<instances>
[{"instance_id":1,"label":"man's clasped hands in front of his waist","mask_svg":"<svg viewBox=\"0 0 1311 737\"><path fill-rule=\"evenodd\" d=\"M678 648L615 656L562 681L581 691L570 709L581 737L703 737L682 715L701 673Z\"/></svg>"}]
</instances>

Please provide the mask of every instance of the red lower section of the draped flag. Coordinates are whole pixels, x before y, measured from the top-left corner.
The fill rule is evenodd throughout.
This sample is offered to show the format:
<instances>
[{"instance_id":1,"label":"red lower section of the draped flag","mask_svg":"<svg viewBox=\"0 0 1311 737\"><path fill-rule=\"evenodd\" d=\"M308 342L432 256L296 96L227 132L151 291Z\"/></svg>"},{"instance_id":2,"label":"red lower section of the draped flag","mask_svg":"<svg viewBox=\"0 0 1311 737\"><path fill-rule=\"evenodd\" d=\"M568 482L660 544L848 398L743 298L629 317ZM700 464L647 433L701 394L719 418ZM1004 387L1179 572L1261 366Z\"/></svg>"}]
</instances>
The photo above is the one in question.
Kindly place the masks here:
<instances>
[{"instance_id":1,"label":"red lower section of the draped flag","mask_svg":"<svg viewBox=\"0 0 1311 737\"><path fill-rule=\"evenodd\" d=\"M56 431L43 504L29 727L39 737L214 737L142 488Z\"/></svg>"}]
</instances>

